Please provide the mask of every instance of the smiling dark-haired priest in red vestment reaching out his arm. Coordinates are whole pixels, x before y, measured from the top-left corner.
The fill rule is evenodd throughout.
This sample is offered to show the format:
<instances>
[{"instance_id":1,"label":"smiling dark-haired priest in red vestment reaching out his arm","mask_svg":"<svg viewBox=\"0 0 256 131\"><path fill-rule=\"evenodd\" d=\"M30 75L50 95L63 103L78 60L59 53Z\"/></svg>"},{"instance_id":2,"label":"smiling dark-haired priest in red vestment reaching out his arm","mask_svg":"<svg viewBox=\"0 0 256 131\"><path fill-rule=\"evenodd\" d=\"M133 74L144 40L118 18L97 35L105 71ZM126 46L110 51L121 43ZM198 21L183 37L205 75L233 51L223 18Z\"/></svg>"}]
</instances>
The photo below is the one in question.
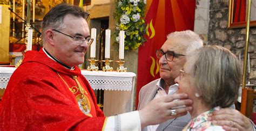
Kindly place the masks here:
<instances>
[{"instance_id":1,"label":"smiling dark-haired priest in red vestment reaching out his arm","mask_svg":"<svg viewBox=\"0 0 256 131\"><path fill-rule=\"evenodd\" d=\"M95 94L78 64L93 39L88 14L77 6L60 4L43 18L43 48L28 51L12 74L2 101L0 129L4 130L140 130L192 107L187 94L153 100L139 111L104 117ZM185 99L173 101L174 99Z\"/></svg>"}]
</instances>

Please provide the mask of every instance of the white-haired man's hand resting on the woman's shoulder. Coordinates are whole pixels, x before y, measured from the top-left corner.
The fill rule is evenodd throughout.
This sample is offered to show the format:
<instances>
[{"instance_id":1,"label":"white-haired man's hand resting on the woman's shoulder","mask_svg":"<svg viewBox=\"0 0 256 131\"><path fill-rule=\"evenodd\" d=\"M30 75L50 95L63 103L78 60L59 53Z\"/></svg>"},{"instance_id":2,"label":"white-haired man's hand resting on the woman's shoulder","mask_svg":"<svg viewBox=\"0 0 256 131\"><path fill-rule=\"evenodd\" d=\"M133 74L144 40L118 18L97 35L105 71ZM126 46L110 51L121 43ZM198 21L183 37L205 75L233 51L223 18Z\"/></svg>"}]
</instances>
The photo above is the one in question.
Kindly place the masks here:
<instances>
[{"instance_id":1,"label":"white-haired man's hand resting on the woman's shoulder","mask_svg":"<svg viewBox=\"0 0 256 131\"><path fill-rule=\"evenodd\" d=\"M223 126L225 130L254 130L253 123L245 115L232 108L221 108L219 111L214 111L208 120L215 125Z\"/></svg>"}]
</instances>

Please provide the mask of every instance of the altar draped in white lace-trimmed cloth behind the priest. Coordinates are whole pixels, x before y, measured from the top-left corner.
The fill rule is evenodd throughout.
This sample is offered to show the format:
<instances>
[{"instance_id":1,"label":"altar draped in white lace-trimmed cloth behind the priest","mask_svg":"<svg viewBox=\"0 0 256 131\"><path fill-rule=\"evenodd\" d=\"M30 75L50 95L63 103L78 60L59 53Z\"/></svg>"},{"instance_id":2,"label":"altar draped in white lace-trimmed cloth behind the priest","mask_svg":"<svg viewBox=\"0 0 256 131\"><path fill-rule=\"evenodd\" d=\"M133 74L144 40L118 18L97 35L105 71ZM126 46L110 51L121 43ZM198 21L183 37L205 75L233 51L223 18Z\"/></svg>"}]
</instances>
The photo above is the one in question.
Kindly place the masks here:
<instances>
[{"instance_id":1,"label":"altar draped in white lace-trimmed cloth behind the priest","mask_svg":"<svg viewBox=\"0 0 256 131\"><path fill-rule=\"evenodd\" d=\"M0 67L0 89L5 89L14 67ZM104 90L105 116L133 111L134 81L133 72L105 72L81 70L93 90Z\"/></svg>"}]
</instances>

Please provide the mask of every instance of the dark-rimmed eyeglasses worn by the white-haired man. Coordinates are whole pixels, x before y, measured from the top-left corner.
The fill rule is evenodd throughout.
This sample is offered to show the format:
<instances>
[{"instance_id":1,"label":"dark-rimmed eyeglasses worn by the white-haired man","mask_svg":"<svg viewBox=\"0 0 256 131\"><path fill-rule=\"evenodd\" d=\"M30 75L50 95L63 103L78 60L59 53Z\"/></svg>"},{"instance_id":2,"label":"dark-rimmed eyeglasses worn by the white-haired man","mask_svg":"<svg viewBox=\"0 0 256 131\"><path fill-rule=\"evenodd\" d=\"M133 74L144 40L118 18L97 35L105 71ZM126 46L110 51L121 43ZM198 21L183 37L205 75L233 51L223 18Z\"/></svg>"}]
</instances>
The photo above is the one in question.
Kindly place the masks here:
<instances>
[{"instance_id":1,"label":"dark-rimmed eyeglasses worn by the white-haired man","mask_svg":"<svg viewBox=\"0 0 256 131\"><path fill-rule=\"evenodd\" d=\"M157 58L160 59L163 55L165 55L165 59L167 61L172 61L173 57L178 57L178 56L185 56L183 54L177 54L174 53L172 51L167 51L167 52L163 52L163 50L156 50L156 54L157 54Z\"/></svg>"}]
</instances>

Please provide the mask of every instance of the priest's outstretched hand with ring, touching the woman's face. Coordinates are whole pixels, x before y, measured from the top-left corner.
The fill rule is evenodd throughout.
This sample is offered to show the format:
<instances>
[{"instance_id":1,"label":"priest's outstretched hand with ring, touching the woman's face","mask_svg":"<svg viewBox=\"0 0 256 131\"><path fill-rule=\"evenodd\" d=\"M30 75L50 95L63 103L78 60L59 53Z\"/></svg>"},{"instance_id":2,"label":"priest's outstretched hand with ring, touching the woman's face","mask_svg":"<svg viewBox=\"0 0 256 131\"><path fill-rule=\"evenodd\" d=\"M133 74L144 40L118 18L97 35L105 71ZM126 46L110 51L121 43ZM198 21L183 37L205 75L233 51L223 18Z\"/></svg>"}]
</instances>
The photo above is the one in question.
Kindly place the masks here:
<instances>
[{"instance_id":1,"label":"priest's outstretched hand with ring, touching the woman's face","mask_svg":"<svg viewBox=\"0 0 256 131\"><path fill-rule=\"evenodd\" d=\"M176 100L180 99L180 100ZM187 94L171 94L165 97L153 99L142 110L139 110L139 117L142 128L148 125L156 125L169 119L180 117L191 111L192 100L187 99ZM186 105L183 106L183 105ZM175 107L183 106L174 109Z\"/></svg>"}]
</instances>

